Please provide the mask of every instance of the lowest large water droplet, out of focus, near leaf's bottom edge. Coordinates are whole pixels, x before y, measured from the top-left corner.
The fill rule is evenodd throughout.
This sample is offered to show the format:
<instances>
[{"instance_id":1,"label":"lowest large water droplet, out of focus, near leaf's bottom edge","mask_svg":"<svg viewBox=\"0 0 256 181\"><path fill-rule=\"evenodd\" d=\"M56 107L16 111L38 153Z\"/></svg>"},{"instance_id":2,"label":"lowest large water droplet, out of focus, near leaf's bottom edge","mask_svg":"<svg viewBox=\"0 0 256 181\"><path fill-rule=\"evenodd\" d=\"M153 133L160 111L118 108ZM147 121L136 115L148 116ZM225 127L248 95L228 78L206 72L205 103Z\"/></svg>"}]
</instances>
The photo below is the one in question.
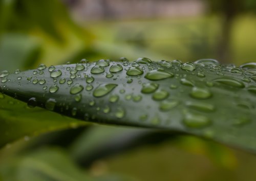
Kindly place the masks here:
<instances>
[{"instance_id":1,"label":"lowest large water droplet, out of focus, near leaf's bottom edge","mask_svg":"<svg viewBox=\"0 0 256 181\"><path fill-rule=\"evenodd\" d=\"M211 120L203 115L186 113L183 119L183 123L187 127L202 128L211 124Z\"/></svg>"}]
</instances>

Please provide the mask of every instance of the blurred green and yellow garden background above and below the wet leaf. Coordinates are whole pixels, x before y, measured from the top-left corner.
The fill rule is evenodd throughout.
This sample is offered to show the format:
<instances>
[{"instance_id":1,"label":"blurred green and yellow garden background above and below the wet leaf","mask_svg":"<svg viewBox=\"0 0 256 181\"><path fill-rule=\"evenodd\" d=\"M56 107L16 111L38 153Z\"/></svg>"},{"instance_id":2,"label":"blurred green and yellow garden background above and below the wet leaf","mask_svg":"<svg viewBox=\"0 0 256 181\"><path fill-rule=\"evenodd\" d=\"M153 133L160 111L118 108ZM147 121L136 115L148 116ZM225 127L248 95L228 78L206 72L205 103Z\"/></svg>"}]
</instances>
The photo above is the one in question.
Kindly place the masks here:
<instances>
[{"instance_id":1,"label":"blurred green and yellow garden background above and below the wet leaf","mask_svg":"<svg viewBox=\"0 0 256 181\"><path fill-rule=\"evenodd\" d=\"M255 12L254 0L1 0L0 71L120 57L239 65L256 60ZM255 168L240 150L128 127L25 137L0 151L0 180L255 180Z\"/></svg>"}]
</instances>

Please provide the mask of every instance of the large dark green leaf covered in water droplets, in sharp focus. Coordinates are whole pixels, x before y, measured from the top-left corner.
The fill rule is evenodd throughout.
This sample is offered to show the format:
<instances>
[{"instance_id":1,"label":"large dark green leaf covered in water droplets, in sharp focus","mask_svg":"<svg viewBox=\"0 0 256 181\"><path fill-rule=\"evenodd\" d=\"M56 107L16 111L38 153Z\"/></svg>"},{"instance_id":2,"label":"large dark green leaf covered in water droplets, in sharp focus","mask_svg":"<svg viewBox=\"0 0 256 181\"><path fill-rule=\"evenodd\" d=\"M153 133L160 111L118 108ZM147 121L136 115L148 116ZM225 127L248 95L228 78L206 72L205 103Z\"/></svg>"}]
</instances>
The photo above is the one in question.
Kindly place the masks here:
<instances>
[{"instance_id":1,"label":"large dark green leaf covered in water droplets, in sharp focus","mask_svg":"<svg viewBox=\"0 0 256 181\"><path fill-rule=\"evenodd\" d=\"M255 67L211 59L100 60L2 72L0 90L30 107L85 121L161 128L256 151Z\"/></svg>"}]
</instances>

